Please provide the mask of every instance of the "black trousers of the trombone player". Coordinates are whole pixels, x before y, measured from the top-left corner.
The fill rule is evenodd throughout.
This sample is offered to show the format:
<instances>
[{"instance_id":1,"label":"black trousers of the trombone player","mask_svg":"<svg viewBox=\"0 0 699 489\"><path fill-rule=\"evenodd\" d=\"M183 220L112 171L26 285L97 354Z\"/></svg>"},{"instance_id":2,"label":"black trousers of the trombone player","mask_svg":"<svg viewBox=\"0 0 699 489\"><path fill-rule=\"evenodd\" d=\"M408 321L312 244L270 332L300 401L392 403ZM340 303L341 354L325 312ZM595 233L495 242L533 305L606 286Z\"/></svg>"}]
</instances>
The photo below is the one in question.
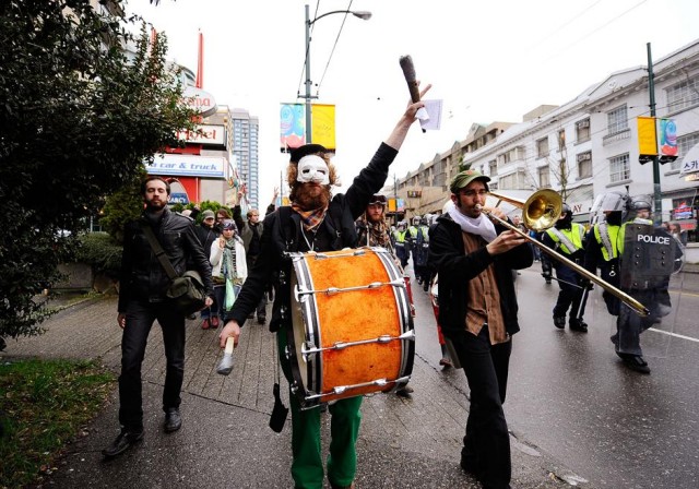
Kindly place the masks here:
<instances>
[{"instance_id":1,"label":"black trousers of the trombone player","mask_svg":"<svg viewBox=\"0 0 699 489\"><path fill-rule=\"evenodd\" d=\"M512 462L502 403L512 342L490 345L487 326L478 336L464 331L451 339L471 391L461 458L474 468L484 487L509 488Z\"/></svg>"}]
</instances>

